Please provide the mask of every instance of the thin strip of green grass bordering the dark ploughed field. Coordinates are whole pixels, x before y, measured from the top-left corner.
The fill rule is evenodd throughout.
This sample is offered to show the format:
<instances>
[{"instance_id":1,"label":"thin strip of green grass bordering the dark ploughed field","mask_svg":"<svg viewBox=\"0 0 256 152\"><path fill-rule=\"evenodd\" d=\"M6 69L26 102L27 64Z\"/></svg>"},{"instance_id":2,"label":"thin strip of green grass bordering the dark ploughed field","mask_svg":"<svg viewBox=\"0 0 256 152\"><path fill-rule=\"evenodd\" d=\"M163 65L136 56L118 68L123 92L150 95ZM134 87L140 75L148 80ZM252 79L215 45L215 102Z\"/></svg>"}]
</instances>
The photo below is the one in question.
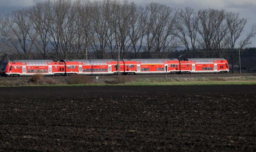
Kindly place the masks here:
<instances>
[{"instance_id":1,"label":"thin strip of green grass bordering the dark ploughed field","mask_svg":"<svg viewBox=\"0 0 256 152\"><path fill-rule=\"evenodd\" d=\"M128 84L72 84L72 85L20 85L20 86L154 86L154 85L256 85L256 81L188 81L188 82L137 82ZM2 86L9 87L9 86Z\"/></svg>"}]
</instances>

